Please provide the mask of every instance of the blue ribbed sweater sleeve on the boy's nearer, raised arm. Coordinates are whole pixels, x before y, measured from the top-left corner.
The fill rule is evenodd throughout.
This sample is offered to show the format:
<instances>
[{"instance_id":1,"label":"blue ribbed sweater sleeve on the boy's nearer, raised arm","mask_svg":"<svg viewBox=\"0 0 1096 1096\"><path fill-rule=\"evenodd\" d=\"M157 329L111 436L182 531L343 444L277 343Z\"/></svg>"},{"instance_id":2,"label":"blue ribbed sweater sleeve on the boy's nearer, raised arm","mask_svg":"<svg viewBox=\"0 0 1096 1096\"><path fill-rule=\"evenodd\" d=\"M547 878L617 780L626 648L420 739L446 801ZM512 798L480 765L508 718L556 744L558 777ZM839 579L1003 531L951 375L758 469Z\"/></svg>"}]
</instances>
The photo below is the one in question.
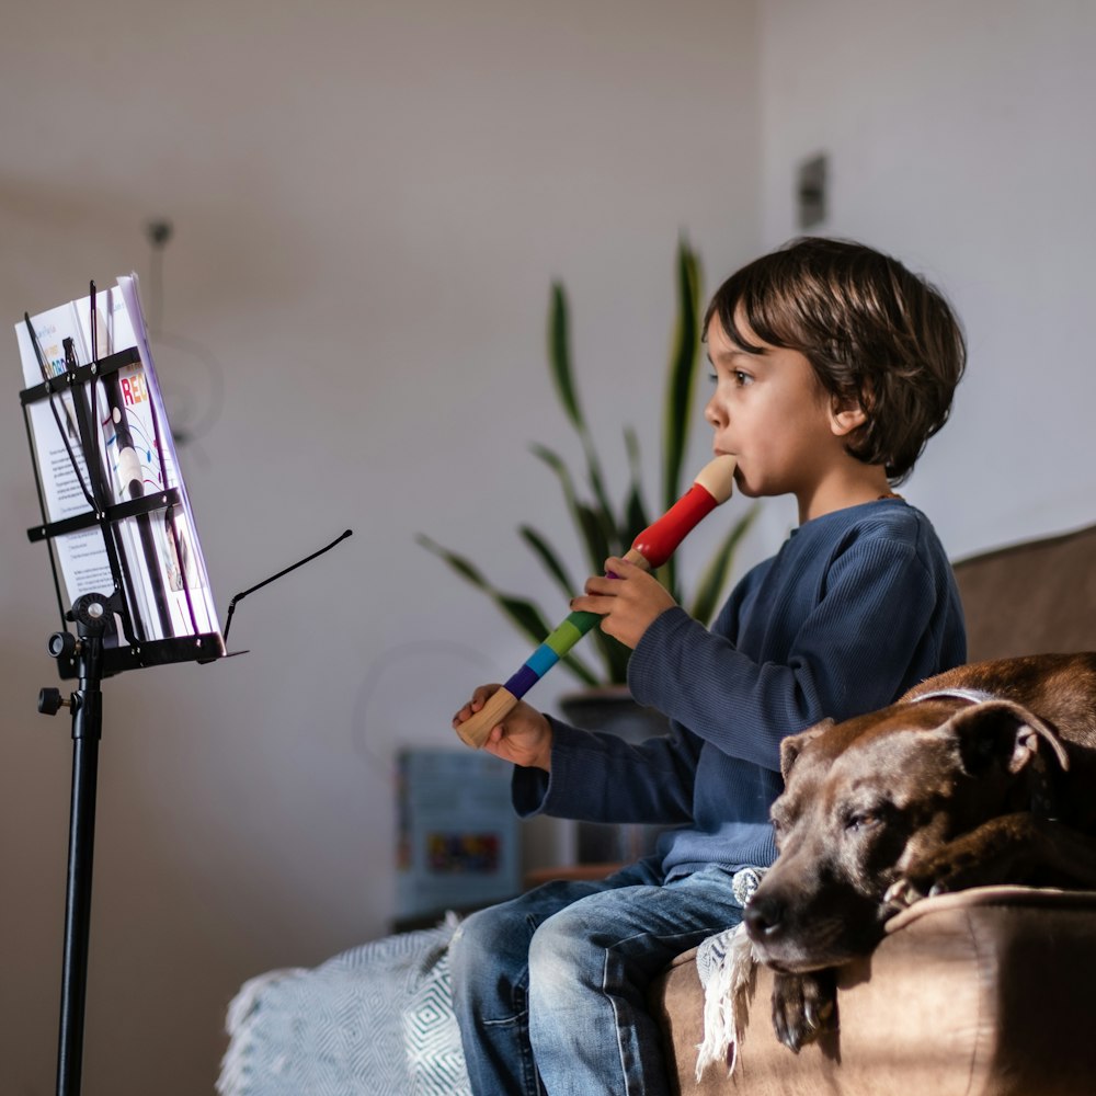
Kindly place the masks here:
<instances>
[{"instance_id":1,"label":"blue ribbed sweater sleeve on the boy's nearer, raised arm","mask_svg":"<svg viewBox=\"0 0 1096 1096\"><path fill-rule=\"evenodd\" d=\"M751 658L675 607L640 640L628 683L640 704L723 753L778 770L786 735L883 707L911 684L936 600L913 545L857 541L827 569L784 657ZM779 615L794 610L774 605L766 628L779 632Z\"/></svg>"}]
</instances>

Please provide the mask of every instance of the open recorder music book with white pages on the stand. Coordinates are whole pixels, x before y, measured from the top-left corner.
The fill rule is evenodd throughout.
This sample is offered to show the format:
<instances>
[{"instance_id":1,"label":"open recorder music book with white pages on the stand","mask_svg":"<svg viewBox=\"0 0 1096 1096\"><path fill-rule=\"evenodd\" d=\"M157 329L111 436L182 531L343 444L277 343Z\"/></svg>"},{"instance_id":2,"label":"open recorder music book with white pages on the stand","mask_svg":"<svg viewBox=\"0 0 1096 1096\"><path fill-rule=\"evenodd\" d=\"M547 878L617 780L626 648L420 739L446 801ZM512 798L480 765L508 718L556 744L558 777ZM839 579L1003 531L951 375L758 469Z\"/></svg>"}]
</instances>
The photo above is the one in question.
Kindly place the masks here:
<instances>
[{"instance_id":1,"label":"open recorder music book with white pages on the stand","mask_svg":"<svg viewBox=\"0 0 1096 1096\"><path fill-rule=\"evenodd\" d=\"M73 385L28 404L47 522L95 512L94 499L89 499L89 492L93 494L89 459L107 486L104 505L138 499L153 502L162 496L162 506L117 524L118 555L128 580L125 592L138 638L219 636L205 560L152 364L137 275L119 277L115 286L99 290L94 312L88 296L34 316L31 323L41 364L25 322L15 324L27 388L47 377L64 378L93 356L102 362L130 347L139 354L139 361L94 383ZM81 444L81 414L93 432L91 453ZM100 526L58 536L53 547L69 604L83 594L113 592Z\"/></svg>"}]
</instances>

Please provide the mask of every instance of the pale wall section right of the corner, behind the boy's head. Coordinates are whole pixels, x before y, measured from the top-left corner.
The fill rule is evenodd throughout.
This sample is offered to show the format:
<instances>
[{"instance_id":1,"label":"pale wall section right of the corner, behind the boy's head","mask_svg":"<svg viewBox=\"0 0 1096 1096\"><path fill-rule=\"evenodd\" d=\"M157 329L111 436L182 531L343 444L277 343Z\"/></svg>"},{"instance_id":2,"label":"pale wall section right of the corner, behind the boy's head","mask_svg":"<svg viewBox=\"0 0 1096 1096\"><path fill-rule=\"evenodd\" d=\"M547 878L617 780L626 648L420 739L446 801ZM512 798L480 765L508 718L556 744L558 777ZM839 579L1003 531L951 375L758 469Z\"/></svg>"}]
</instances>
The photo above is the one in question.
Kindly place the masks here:
<instances>
[{"instance_id":1,"label":"pale wall section right of the corner, behind the boy's head","mask_svg":"<svg viewBox=\"0 0 1096 1096\"><path fill-rule=\"evenodd\" d=\"M1096 5L765 0L764 243L830 156L825 230L926 272L968 375L905 493L956 556L1094 518Z\"/></svg>"}]
</instances>

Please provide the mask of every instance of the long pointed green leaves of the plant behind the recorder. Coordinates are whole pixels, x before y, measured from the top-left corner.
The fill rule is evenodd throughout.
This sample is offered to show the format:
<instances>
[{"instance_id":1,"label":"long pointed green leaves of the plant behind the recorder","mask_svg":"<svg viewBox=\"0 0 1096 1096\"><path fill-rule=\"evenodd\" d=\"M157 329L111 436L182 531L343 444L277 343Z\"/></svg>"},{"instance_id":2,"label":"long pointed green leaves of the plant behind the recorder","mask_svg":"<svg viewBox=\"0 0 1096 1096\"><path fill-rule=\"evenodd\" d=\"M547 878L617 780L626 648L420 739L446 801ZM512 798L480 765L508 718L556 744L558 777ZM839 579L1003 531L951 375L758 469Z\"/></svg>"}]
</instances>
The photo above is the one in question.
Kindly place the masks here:
<instances>
[{"instance_id":1,"label":"long pointed green leaves of the plant behind the recorder","mask_svg":"<svg viewBox=\"0 0 1096 1096\"><path fill-rule=\"evenodd\" d=\"M534 444L532 452L551 469L559 481L585 555L589 573L601 571L608 556L624 555L652 520L669 510L689 486L683 483L683 478L700 359L699 282L699 261L688 243L682 240L678 242L676 254L676 320L662 408L662 468L658 495L662 509L658 513L652 513L648 509L641 483L639 439L630 426L625 427L624 432L630 469L629 481L617 501L614 501L609 493L574 383L567 294L561 283L556 282L551 286L548 310L548 364L560 404L581 444L585 461L581 481L572 475L567 463L555 449ZM670 591L674 600L703 624L710 623L722 602L735 548L755 515L756 505L746 510L731 526L701 571L692 596L686 597L682 590L673 558L655 572L659 581ZM530 525L521 525L518 533L560 587L564 598L570 600L580 585L573 581L555 546ZM415 539L429 551L445 560L463 579L491 597L533 646L539 644L552 625L558 623L549 621L540 607L528 598L500 590L464 556L443 547L424 534L419 534ZM600 666L592 666L589 657L583 658L575 651L571 651L560 664L586 686L584 696L598 696L605 693L610 696L619 695L620 687L626 682L629 650L596 628L590 638L593 644L586 644L586 650L596 651ZM585 721L585 726L590 726L589 720Z\"/></svg>"}]
</instances>

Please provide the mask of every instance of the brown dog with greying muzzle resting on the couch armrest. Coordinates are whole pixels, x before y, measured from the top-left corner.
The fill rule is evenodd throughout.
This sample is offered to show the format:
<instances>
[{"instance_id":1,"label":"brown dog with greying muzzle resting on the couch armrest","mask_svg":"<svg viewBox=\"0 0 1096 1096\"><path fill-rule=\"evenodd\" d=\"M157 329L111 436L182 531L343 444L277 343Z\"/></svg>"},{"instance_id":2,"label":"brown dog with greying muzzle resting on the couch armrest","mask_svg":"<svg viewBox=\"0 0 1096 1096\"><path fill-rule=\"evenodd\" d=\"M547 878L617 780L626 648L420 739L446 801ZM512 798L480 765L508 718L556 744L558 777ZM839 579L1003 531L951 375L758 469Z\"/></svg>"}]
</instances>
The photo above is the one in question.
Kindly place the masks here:
<instances>
[{"instance_id":1,"label":"brown dog with greying muzzle resting on the couch armrest","mask_svg":"<svg viewBox=\"0 0 1096 1096\"><path fill-rule=\"evenodd\" d=\"M778 856L744 914L777 1038L835 1026L833 969L921 898L1096 887L1096 652L960 666L781 744Z\"/></svg>"}]
</instances>

